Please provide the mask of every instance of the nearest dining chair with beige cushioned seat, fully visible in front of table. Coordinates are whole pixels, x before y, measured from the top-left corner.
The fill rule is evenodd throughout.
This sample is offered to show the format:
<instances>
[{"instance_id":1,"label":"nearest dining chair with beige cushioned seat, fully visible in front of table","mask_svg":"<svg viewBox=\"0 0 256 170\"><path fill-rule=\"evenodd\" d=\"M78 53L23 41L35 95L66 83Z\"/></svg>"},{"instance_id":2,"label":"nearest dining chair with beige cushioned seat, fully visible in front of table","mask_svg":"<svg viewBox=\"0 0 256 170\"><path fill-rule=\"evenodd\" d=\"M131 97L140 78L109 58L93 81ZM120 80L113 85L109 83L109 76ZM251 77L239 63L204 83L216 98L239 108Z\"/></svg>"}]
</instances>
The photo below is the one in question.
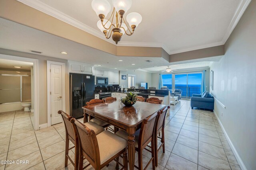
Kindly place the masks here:
<instances>
[{"instance_id":1,"label":"nearest dining chair with beige cushioned seat, fully visible in front of table","mask_svg":"<svg viewBox=\"0 0 256 170\"><path fill-rule=\"evenodd\" d=\"M76 142L79 144L79 170L85 169L88 166L96 170L100 170L107 166L112 160L116 160L122 154L123 165L122 169L128 169L127 159L127 141L118 137L110 131L104 131L96 136L92 129L86 125L80 123L76 119L71 119L75 131L76 131ZM88 160L87 164L83 168L84 159ZM121 170L122 170L121 169Z\"/></svg>"}]
</instances>

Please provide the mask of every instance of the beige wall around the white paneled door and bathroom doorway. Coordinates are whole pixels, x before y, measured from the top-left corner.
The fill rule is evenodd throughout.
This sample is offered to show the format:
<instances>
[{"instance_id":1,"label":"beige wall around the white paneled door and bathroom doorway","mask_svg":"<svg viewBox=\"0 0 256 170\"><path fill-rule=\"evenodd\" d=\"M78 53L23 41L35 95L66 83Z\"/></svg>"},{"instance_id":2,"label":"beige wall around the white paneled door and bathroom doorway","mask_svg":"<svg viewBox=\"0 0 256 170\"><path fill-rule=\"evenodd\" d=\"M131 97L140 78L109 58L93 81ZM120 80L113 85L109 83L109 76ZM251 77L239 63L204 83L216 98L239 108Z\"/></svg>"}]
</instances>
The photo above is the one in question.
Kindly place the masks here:
<instances>
[{"instance_id":1,"label":"beige wall around the white paneled door and bathroom doorway","mask_svg":"<svg viewBox=\"0 0 256 170\"><path fill-rule=\"evenodd\" d=\"M47 123L47 76L46 76L46 61L56 61L65 63L65 83L66 83L66 111L68 110L68 61L63 59L57 59L53 57L47 57L43 55L35 55L30 53L23 53L19 51L12 51L8 49L0 49L0 54L13 55L18 57L26 57L31 59L38 59L39 67L39 125ZM67 111L68 112L68 111Z\"/></svg>"}]
</instances>

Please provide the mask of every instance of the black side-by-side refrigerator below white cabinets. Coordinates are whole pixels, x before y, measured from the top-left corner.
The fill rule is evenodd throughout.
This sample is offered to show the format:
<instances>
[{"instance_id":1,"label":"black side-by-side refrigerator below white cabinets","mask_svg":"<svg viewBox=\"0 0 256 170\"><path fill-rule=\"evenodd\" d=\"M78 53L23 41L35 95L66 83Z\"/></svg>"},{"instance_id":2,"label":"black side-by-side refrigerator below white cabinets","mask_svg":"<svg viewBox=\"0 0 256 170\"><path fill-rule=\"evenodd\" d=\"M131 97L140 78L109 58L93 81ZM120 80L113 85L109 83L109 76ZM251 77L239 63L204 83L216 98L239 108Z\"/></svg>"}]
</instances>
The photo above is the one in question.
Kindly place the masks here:
<instances>
[{"instance_id":1,"label":"black side-by-side refrigerator below white cabinets","mask_svg":"<svg viewBox=\"0 0 256 170\"><path fill-rule=\"evenodd\" d=\"M83 117L86 102L94 99L95 77L87 74L69 74L70 80L70 115L74 118Z\"/></svg>"}]
</instances>

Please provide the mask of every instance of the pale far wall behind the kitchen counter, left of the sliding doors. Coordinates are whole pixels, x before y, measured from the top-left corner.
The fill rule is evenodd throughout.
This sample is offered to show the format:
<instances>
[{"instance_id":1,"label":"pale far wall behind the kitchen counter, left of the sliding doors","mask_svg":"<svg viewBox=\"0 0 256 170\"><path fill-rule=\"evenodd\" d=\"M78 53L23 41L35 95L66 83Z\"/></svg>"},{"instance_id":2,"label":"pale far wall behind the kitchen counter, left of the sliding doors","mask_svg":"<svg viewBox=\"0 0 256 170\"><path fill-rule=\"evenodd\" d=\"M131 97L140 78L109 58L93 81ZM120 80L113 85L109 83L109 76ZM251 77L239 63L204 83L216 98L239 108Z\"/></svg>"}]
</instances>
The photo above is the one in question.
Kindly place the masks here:
<instances>
[{"instance_id":1,"label":"pale far wall behind the kitchen counter, left of the sliding doors","mask_svg":"<svg viewBox=\"0 0 256 170\"><path fill-rule=\"evenodd\" d=\"M144 71L140 71L140 70L120 71L120 74L119 74L120 86L123 85L125 88L127 88L127 85L128 85L128 76L127 75L128 74L135 75L136 88L140 87L140 83L148 83L148 87L151 86L152 73L144 72ZM122 80L122 75L126 75L127 80Z\"/></svg>"}]
</instances>

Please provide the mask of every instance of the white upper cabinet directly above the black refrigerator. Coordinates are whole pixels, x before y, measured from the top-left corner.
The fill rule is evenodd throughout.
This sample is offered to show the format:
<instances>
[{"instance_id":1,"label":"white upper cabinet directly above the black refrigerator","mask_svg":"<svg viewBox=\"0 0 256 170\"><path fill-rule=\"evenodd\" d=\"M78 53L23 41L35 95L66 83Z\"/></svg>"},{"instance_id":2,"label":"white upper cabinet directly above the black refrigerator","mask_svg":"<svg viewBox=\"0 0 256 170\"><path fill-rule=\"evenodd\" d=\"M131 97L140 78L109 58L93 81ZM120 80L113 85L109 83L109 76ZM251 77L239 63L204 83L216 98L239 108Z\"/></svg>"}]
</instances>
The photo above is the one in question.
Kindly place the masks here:
<instances>
[{"instance_id":1,"label":"white upper cabinet directly above the black refrigerator","mask_svg":"<svg viewBox=\"0 0 256 170\"><path fill-rule=\"evenodd\" d=\"M72 73L92 74L93 66L76 61L68 61L68 70Z\"/></svg>"}]
</instances>

